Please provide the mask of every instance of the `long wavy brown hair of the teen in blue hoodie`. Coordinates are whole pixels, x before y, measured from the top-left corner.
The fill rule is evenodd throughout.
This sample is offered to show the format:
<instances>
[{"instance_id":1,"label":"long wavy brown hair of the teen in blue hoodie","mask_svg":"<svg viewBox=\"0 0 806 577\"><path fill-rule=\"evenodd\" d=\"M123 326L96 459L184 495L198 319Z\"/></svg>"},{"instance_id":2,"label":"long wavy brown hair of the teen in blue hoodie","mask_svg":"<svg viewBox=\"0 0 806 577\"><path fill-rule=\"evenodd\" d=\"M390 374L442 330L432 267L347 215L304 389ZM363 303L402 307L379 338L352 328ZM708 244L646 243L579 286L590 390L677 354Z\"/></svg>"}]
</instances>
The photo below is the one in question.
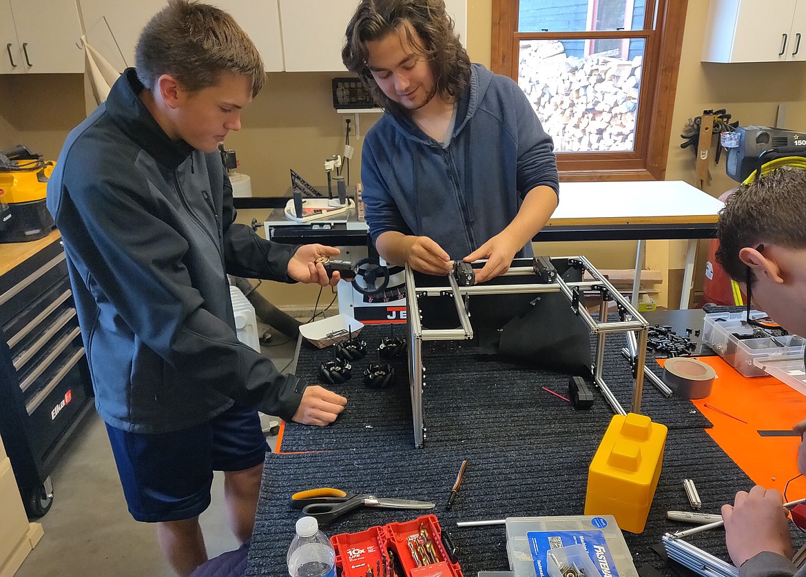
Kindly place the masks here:
<instances>
[{"instance_id":1,"label":"long wavy brown hair of the teen in blue hoodie","mask_svg":"<svg viewBox=\"0 0 806 577\"><path fill-rule=\"evenodd\" d=\"M414 41L411 28L422 40ZM470 57L454 31L454 22L444 0L361 0L347 24L347 44L342 61L358 74L378 105L393 114L408 111L380 90L367 66L367 43L380 40L403 26L409 44L429 61L434 89L443 97L455 98L470 84Z\"/></svg>"}]
</instances>

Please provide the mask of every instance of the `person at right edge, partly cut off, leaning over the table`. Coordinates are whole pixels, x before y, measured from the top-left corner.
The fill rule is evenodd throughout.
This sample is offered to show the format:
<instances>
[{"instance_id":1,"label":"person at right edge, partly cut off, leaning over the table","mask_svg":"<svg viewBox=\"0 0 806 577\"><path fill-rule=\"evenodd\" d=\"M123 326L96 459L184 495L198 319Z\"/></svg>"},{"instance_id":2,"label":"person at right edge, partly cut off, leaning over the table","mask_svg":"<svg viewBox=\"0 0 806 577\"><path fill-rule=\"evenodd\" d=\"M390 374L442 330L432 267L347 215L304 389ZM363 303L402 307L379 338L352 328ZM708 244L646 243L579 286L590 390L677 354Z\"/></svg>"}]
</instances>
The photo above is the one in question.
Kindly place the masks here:
<instances>
[{"instance_id":1,"label":"person at right edge, partly cut off, leaning over the table","mask_svg":"<svg viewBox=\"0 0 806 577\"><path fill-rule=\"evenodd\" d=\"M787 331L806 335L806 170L787 166L740 186L719 215L717 261L754 307ZM793 429L806 433L806 420ZM798 470L806 473L806 444ZM756 485L722 507L725 541L741 577L804 577L792 559L783 497Z\"/></svg>"}]
</instances>

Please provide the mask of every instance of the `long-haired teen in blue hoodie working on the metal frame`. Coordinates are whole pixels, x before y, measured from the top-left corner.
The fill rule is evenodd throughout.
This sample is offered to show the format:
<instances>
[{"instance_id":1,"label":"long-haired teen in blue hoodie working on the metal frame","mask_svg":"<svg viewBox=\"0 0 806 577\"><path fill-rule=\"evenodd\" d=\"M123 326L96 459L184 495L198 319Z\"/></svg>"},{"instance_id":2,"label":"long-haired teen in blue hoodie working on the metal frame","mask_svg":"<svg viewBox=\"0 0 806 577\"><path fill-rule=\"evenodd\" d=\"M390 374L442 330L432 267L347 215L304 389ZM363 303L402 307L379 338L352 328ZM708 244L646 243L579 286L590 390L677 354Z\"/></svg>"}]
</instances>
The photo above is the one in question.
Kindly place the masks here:
<instances>
[{"instance_id":1,"label":"long-haired teen in blue hoodie working on the metal frame","mask_svg":"<svg viewBox=\"0 0 806 577\"><path fill-rule=\"evenodd\" d=\"M361 161L380 256L441 275L487 258L476 282L532 256L558 202L554 144L512 79L471 65L445 2L362 0L342 56L385 110Z\"/></svg>"}]
</instances>

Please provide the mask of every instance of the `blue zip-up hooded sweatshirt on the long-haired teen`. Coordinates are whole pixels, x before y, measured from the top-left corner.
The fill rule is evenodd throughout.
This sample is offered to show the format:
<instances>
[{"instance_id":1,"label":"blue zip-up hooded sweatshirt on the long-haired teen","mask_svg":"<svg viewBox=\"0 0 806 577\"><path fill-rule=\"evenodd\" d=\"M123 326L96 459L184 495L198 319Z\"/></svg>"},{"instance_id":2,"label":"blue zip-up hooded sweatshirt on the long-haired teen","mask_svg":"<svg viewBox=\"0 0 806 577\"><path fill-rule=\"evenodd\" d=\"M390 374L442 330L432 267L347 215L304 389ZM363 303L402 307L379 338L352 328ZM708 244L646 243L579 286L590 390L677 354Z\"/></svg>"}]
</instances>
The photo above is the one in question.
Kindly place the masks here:
<instances>
[{"instance_id":1,"label":"blue zip-up hooded sweatshirt on the long-haired teen","mask_svg":"<svg viewBox=\"0 0 806 577\"><path fill-rule=\"evenodd\" d=\"M447 148L386 112L367 133L361 182L373 242L388 231L429 236L452 259L504 230L535 186L559 189L554 143L526 94L482 65L472 65ZM531 256L531 243L517 254Z\"/></svg>"}]
</instances>

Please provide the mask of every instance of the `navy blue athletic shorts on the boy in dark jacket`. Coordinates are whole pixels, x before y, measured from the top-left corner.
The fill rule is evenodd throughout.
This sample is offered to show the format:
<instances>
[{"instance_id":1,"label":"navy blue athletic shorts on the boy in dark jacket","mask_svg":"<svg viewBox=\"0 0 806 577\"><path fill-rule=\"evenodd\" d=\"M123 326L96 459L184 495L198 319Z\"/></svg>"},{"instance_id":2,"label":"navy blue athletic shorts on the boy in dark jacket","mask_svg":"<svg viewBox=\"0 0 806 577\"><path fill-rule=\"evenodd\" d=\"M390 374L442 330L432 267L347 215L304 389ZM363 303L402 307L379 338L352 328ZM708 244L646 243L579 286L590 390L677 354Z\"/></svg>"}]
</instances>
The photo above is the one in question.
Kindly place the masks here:
<instances>
[{"instance_id":1,"label":"navy blue athletic shorts on the boy in dark jacket","mask_svg":"<svg viewBox=\"0 0 806 577\"><path fill-rule=\"evenodd\" d=\"M213 471L251 469L268 444L253 408L233 405L212 420L171 433L131 433L106 424L131 516L180 521L210 506Z\"/></svg>"}]
</instances>

